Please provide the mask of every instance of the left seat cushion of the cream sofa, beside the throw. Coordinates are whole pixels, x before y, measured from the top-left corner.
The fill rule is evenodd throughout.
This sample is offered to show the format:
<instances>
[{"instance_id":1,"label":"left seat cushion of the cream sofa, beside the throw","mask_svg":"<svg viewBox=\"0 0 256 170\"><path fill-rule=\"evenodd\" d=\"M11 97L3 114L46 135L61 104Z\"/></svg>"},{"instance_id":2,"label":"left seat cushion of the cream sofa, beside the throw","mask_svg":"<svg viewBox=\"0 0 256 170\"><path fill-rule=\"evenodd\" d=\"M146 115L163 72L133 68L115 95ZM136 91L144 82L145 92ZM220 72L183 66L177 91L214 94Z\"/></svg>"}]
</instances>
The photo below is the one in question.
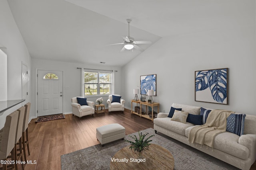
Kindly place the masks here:
<instances>
[{"instance_id":1,"label":"left seat cushion of the cream sofa, beside the throw","mask_svg":"<svg viewBox=\"0 0 256 170\"><path fill-rule=\"evenodd\" d=\"M185 136L185 130L188 127L194 126L192 123L189 122L186 122L185 124L178 121L172 121L170 117L155 118L154 124L183 136Z\"/></svg>"}]
</instances>

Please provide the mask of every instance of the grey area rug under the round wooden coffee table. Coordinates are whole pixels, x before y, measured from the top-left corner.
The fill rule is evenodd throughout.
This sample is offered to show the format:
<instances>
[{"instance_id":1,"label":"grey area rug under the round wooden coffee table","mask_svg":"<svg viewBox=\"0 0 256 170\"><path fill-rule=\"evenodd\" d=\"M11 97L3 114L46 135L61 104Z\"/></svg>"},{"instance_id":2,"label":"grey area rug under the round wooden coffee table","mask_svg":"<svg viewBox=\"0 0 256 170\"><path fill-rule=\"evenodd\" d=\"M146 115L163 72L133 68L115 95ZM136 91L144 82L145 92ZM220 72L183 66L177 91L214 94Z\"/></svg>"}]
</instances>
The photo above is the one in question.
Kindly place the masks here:
<instances>
[{"instance_id":1,"label":"grey area rug under the round wooden coffee table","mask_svg":"<svg viewBox=\"0 0 256 170\"><path fill-rule=\"evenodd\" d=\"M160 145L172 153L175 170L238 170L238 168L222 162L204 152L196 150L186 144L180 143L161 133L155 134L154 129L143 130L142 133L154 134L151 143ZM131 135L137 135L138 132ZM129 135L125 139L131 140ZM61 156L62 170L109 170L110 161L114 154L128 146L124 140L106 144L104 147L94 145ZM159 167L161 169L161 167Z\"/></svg>"}]
</instances>

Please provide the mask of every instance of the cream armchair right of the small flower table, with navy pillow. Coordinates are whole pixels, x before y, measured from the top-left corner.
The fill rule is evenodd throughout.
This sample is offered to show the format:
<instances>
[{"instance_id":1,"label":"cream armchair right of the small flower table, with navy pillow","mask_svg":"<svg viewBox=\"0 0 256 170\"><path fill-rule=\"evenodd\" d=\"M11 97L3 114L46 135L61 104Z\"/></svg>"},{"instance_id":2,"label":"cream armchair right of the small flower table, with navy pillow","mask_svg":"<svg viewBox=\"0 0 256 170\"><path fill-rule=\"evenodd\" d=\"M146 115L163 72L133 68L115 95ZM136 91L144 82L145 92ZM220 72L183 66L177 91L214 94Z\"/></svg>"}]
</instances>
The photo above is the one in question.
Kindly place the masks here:
<instances>
[{"instance_id":1,"label":"cream armchair right of the small flower table, with navy pillow","mask_svg":"<svg viewBox=\"0 0 256 170\"><path fill-rule=\"evenodd\" d=\"M117 97L113 97L117 96ZM119 99L120 98L120 99ZM114 100L113 100L114 99ZM124 112L124 100L121 99L121 96L118 94L113 94L108 96L108 111L122 111Z\"/></svg>"}]
</instances>

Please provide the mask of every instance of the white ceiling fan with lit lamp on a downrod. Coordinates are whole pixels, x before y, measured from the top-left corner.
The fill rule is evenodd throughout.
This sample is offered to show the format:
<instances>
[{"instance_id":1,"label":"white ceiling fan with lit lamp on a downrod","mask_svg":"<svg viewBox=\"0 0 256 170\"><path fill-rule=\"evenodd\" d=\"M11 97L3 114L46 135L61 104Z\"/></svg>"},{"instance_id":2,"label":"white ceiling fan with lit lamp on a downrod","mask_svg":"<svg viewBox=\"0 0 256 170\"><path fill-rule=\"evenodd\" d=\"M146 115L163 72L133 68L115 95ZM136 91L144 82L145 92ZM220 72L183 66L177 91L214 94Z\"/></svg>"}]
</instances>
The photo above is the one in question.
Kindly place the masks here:
<instances>
[{"instance_id":1,"label":"white ceiling fan with lit lamp on a downrod","mask_svg":"<svg viewBox=\"0 0 256 170\"><path fill-rule=\"evenodd\" d=\"M123 52L125 49L133 51L133 48L135 48L136 50L139 50L139 51L144 51L144 49L139 47L137 44L150 44L152 42L151 41L134 41L134 38L130 37L130 22L132 20L127 19L126 21L128 22L128 37L122 36L124 39L123 43L116 43L116 44L109 44L109 45L124 44L124 47L121 49L120 52Z\"/></svg>"}]
</instances>

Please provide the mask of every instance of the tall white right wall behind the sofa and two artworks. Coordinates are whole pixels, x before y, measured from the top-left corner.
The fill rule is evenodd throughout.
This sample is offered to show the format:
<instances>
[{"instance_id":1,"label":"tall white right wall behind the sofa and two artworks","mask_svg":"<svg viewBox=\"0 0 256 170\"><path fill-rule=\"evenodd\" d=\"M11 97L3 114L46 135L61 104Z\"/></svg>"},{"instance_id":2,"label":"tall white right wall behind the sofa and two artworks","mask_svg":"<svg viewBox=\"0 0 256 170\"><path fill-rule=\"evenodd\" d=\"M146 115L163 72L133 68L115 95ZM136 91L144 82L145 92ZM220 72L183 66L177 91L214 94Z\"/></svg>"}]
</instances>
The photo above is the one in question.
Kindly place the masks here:
<instances>
[{"instance_id":1,"label":"tall white right wall behind the sofa and two artworks","mask_svg":"<svg viewBox=\"0 0 256 170\"><path fill-rule=\"evenodd\" d=\"M255 30L255 23L251 23L160 39L122 68L125 106L131 107L140 76L157 74L153 100L160 103L161 112L168 113L172 103L180 103L256 115ZM215 68L229 68L229 104L195 102L194 71Z\"/></svg>"}]
</instances>

